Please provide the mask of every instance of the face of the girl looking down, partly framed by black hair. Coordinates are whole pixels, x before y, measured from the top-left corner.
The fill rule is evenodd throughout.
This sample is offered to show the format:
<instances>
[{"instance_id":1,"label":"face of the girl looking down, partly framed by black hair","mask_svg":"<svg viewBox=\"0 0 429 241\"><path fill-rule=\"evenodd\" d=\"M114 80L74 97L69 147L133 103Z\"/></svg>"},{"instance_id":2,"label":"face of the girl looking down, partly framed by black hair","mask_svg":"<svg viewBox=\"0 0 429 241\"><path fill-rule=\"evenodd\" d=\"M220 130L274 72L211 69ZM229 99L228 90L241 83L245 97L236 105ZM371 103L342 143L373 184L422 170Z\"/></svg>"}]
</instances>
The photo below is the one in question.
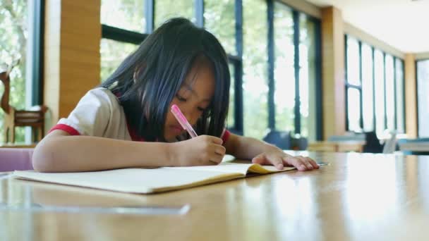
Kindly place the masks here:
<instances>
[{"instance_id":1,"label":"face of the girl looking down, partly framed by black hair","mask_svg":"<svg viewBox=\"0 0 429 241\"><path fill-rule=\"evenodd\" d=\"M174 142L177 135L186 132L171 113L171 106L173 104L179 106L188 122L195 125L212 101L214 85L214 74L208 64L202 63L191 68L185 82L169 105L164 126L165 140Z\"/></svg>"}]
</instances>

